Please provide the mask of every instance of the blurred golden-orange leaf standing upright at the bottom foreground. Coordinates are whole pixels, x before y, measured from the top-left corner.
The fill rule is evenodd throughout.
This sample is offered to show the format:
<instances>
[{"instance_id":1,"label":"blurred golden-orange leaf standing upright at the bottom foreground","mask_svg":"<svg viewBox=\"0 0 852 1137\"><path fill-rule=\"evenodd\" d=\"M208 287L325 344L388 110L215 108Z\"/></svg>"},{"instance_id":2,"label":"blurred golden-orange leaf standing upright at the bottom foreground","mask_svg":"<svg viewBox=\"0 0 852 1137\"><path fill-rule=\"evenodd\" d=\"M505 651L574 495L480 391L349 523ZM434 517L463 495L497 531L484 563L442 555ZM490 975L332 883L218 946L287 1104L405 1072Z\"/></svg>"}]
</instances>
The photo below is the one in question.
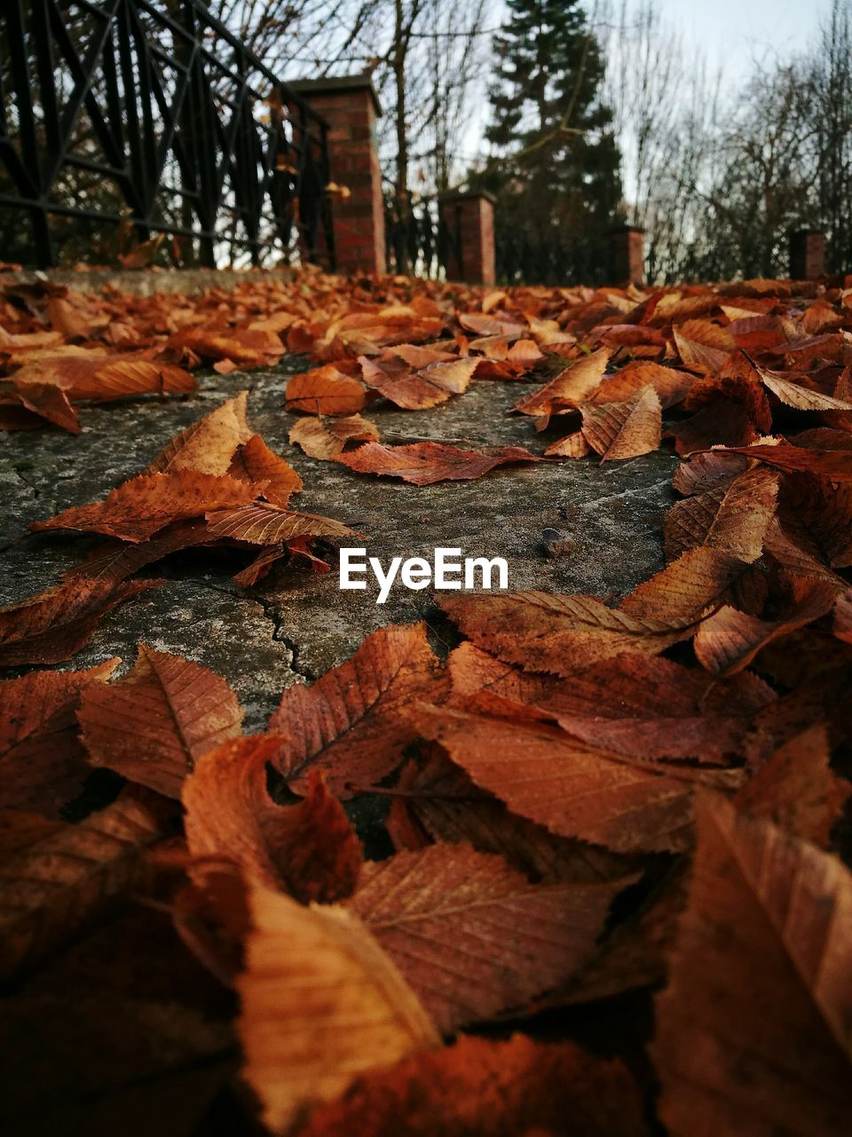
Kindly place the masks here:
<instances>
[{"instance_id":1,"label":"blurred golden-orange leaf standing upright at the bottom foreground","mask_svg":"<svg viewBox=\"0 0 852 1137\"><path fill-rule=\"evenodd\" d=\"M359 1073L440 1046L417 996L360 921L260 883L240 977L244 1077L274 1132Z\"/></svg>"}]
</instances>

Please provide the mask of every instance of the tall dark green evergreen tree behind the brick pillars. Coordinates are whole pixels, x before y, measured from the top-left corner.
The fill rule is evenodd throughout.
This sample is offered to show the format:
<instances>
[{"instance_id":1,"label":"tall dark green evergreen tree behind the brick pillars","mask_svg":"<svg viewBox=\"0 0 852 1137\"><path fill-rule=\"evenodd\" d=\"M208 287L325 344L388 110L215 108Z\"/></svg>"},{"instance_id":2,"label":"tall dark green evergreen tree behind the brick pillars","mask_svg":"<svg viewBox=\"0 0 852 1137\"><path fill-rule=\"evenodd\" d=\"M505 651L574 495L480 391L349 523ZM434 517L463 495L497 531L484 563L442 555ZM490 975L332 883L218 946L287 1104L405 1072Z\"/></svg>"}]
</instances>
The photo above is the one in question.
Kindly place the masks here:
<instances>
[{"instance_id":1,"label":"tall dark green evergreen tree behind the brick pillars","mask_svg":"<svg viewBox=\"0 0 852 1137\"><path fill-rule=\"evenodd\" d=\"M600 96L600 45L577 0L507 7L490 89L494 157L471 181L496 193L503 231L562 260L552 265L560 275L600 275L601 236L621 198L612 114Z\"/></svg>"}]
</instances>

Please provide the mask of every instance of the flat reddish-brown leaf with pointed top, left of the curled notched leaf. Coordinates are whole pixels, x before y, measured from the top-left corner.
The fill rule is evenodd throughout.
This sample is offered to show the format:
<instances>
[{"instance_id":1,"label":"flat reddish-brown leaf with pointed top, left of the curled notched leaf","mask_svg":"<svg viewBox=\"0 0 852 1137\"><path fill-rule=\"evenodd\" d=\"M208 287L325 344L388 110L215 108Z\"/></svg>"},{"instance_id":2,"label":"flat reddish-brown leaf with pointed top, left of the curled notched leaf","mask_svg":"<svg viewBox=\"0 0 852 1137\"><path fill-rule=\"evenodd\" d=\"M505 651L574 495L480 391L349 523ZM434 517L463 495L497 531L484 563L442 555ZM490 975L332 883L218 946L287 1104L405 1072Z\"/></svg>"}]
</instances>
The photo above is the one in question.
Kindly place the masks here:
<instances>
[{"instance_id":1,"label":"flat reddish-brown leaf with pointed top, left of the curled notched leaf","mask_svg":"<svg viewBox=\"0 0 852 1137\"><path fill-rule=\"evenodd\" d=\"M83 690L77 717L92 765L179 798L201 755L239 736L243 712L207 667L140 644L124 679Z\"/></svg>"}]
</instances>

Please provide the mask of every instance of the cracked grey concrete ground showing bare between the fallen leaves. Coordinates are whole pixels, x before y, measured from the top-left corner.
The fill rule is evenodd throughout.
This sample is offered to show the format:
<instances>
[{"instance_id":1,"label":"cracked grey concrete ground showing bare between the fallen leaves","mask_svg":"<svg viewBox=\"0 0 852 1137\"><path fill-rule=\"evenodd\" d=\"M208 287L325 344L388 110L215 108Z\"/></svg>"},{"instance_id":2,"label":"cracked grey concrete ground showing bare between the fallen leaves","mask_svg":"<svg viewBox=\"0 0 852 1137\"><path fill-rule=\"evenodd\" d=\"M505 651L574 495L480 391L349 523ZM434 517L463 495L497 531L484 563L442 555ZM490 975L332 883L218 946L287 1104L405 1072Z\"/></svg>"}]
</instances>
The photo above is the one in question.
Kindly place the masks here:
<instances>
[{"instance_id":1,"label":"cracked grey concrete ground showing bare between the fallen leaves","mask_svg":"<svg viewBox=\"0 0 852 1137\"><path fill-rule=\"evenodd\" d=\"M253 429L301 475L296 508L335 517L365 533L371 556L432 558L435 546L467 556L503 556L512 590L619 596L662 567L662 514L673 500L675 458L655 453L601 466L594 457L501 467L471 482L416 487L356 474L309 458L290 446L295 415L283 409L287 377L308 362L289 357L268 372L199 375L197 395L81 408L83 432L58 430L0 435L0 604L58 582L82 559L91 538L28 534L31 521L98 500L137 474L177 431L241 388L250 390ZM474 382L432 410L403 412L376 404L365 414L384 442L434 439L470 448L519 445L542 453L567 433L566 420L536 435L532 421L507 408L529 388ZM556 532L545 532L545 531ZM559 539L558 555L545 546ZM136 645L181 654L224 675L259 730L283 688L309 682L354 652L365 636L392 623L426 617L440 634L442 617L428 591L395 586L387 603L376 588L340 591L333 572L283 564L257 588L233 584L245 563L229 550L187 550L147 575L168 583L114 609L86 647L62 667L89 666L118 655L130 666Z\"/></svg>"}]
</instances>

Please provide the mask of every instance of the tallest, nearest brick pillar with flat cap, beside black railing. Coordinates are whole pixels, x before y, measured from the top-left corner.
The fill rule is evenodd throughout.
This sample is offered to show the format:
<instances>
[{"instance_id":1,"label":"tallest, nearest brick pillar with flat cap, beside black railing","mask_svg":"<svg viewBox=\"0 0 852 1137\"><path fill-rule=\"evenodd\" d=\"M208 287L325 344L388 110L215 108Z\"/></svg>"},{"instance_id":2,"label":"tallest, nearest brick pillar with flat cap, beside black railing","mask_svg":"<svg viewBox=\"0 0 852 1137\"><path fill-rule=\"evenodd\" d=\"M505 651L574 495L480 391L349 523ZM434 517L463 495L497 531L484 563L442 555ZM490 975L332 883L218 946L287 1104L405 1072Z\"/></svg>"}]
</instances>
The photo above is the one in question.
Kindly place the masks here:
<instances>
[{"instance_id":1,"label":"tallest, nearest brick pillar with flat cap, beside black railing","mask_svg":"<svg viewBox=\"0 0 852 1137\"><path fill-rule=\"evenodd\" d=\"M340 273L384 273L385 216L376 119L382 114L369 75L287 84L328 123L331 179L349 190L332 201Z\"/></svg>"}]
</instances>

